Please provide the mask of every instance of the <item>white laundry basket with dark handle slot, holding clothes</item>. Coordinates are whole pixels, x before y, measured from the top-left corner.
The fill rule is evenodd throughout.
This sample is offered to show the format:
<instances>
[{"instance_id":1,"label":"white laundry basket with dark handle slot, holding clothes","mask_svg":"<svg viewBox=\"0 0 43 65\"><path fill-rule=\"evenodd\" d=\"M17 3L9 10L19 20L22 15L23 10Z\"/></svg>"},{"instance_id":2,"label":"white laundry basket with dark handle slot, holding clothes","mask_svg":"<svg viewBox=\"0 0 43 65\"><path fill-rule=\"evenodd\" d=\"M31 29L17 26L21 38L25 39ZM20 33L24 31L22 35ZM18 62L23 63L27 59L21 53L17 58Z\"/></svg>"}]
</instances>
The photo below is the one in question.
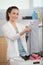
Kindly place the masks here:
<instances>
[{"instance_id":1,"label":"white laundry basket with dark handle slot, holding clothes","mask_svg":"<svg viewBox=\"0 0 43 65\"><path fill-rule=\"evenodd\" d=\"M42 65L41 60L19 60L19 59L14 59L10 61L10 65Z\"/></svg>"}]
</instances>

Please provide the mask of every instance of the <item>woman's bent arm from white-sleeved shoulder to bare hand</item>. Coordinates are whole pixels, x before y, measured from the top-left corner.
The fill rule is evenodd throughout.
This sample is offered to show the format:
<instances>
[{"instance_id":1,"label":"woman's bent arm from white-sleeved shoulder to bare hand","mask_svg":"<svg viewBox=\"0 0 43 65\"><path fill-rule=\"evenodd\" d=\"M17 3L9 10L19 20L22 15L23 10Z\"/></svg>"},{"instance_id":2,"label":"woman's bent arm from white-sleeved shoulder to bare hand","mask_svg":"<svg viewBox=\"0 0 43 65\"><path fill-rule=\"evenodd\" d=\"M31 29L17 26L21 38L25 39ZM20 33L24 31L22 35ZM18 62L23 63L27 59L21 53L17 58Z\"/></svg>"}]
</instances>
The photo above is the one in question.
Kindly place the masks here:
<instances>
[{"instance_id":1,"label":"woman's bent arm from white-sleeved shoulder to bare hand","mask_svg":"<svg viewBox=\"0 0 43 65\"><path fill-rule=\"evenodd\" d=\"M20 33L17 33L17 34L11 34L10 32L9 32L9 30L8 29L6 29L6 28L2 28L2 31L3 31L3 34L4 34L4 36L6 37L6 38L8 38L8 39L11 39L11 40L16 40L16 39L18 39L19 37L21 37L24 33L26 33L26 32L29 32L30 31L30 27L27 27L27 28L25 28L23 31L21 31ZM12 31L11 31L12 32Z\"/></svg>"}]
</instances>

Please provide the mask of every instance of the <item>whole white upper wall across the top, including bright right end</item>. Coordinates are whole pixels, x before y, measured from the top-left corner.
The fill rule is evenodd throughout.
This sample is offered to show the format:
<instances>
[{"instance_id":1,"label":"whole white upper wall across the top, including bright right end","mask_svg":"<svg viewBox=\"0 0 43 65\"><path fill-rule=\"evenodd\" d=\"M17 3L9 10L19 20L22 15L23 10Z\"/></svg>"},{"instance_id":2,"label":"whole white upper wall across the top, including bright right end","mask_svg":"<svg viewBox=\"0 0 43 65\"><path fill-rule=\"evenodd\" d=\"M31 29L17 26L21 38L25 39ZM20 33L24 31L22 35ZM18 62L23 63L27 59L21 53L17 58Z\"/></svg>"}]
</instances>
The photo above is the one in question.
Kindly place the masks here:
<instances>
[{"instance_id":1,"label":"whole white upper wall across the top, including bright right end","mask_svg":"<svg viewBox=\"0 0 43 65\"><path fill-rule=\"evenodd\" d=\"M0 0L0 9L7 9L9 6L14 5L20 9L32 9L43 7L43 0Z\"/></svg>"}]
</instances>

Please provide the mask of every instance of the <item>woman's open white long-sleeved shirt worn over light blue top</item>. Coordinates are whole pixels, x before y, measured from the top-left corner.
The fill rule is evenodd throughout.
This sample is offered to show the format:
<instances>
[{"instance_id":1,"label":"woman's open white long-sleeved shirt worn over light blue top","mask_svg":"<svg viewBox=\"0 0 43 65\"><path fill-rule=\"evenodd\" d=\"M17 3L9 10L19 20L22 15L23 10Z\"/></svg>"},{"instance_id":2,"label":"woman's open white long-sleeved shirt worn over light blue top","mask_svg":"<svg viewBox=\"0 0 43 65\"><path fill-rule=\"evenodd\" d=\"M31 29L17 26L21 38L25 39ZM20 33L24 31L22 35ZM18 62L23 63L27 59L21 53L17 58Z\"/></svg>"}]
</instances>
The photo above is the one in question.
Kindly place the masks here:
<instances>
[{"instance_id":1,"label":"woman's open white long-sleeved shirt worn over light blue top","mask_svg":"<svg viewBox=\"0 0 43 65\"><path fill-rule=\"evenodd\" d=\"M16 22L16 25L19 32L23 31L23 29L25 28L25 26L22 25L21 23ZM19 37L21 38L22 45L25 51L27 52L27 43L25 39L25 34L22 36L20 36L19 33L16 34L16 30L9 21L2 27L2 31L8 43L7 59L19 57L18 43L17 43L17 39Z\"/></svg>"}]
</instances>

